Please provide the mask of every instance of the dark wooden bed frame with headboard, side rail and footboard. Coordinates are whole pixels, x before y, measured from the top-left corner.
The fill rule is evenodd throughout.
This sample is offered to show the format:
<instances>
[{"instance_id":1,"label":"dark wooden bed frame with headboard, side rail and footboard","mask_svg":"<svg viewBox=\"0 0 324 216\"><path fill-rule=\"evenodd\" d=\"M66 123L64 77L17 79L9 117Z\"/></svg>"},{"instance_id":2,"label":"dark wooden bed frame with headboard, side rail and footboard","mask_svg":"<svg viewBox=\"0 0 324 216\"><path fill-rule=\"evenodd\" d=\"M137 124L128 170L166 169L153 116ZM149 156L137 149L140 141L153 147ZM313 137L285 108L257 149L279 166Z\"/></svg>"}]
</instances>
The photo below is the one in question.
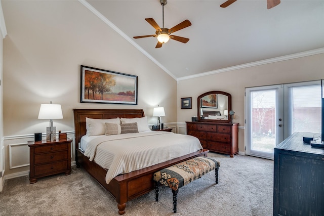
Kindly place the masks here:
<instances>
[{"instance_id":1,"label":"dark wooden bed frame with headboard, side rail and footboard","mask_svg":"<svg viewBox=\"0 0 324 216\"><path fill-rule=\"evenodd\" d=\"M144 117L142 109L73 109L74 126L75 126L75 162L77 167L83 166L91 176L93 176L100 185L102 185L117 201L118 213L124 214L126 202L139 197L154 189L153 174L154 172L182 162L189 158L197 156L207 156L209 150L199 150L185 156L175 158L163 163L159 163L128 174L115 177L109 184L106 183L105 177L107 169L102 168L95 162L89 160L82 151L79 143L82 136L86 135L86 117L97 119L108 118L135 118Z\"/></svg>"}]
</instances>

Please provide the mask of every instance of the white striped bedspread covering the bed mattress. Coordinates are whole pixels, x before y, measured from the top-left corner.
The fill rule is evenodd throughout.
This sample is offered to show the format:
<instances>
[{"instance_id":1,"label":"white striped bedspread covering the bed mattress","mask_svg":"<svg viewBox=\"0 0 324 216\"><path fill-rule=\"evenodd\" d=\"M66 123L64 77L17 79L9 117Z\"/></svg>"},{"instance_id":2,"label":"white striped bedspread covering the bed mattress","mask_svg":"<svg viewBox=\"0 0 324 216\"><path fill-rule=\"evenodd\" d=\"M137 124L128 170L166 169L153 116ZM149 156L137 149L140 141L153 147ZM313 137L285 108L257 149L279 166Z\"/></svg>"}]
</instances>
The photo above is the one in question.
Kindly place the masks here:
<instances>
[{"instance_id":1,"label":"white striped bedspread covering the bed mattress","mask_svg":"<svg viewBox=\"0 0 324 216\"><path fill-rule=\"evenodd\" d=\"M107 168L106 183L118 176L196 152L197 138L170 132L98 136L89 141L85 155Z\"/></svg>"}]
</instances>

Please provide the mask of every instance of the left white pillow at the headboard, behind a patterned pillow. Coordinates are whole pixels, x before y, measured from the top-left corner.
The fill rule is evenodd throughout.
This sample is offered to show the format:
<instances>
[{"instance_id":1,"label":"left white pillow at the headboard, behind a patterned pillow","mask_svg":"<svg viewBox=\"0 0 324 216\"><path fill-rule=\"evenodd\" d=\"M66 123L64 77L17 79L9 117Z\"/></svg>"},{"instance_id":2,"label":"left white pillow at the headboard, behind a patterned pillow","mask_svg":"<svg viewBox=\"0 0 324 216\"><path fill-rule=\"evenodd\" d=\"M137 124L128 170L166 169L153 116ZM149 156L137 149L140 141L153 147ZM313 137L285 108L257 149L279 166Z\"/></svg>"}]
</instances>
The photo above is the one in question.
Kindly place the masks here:
<instances>
[{"instance_id":1,"label":"left white pillow at the headboard, behind a patterned pillow","mask_svg":"<svg viewBox=\"0 0 324 216\"><path fill-rule=\"evenodd\" d=\"M120 118L118 117L118 118L110 118L110 119L95 119L95 118L86 117L87 135L89 136L105 135L106 122L120 124Z\"/></svg>"}]
</instances>

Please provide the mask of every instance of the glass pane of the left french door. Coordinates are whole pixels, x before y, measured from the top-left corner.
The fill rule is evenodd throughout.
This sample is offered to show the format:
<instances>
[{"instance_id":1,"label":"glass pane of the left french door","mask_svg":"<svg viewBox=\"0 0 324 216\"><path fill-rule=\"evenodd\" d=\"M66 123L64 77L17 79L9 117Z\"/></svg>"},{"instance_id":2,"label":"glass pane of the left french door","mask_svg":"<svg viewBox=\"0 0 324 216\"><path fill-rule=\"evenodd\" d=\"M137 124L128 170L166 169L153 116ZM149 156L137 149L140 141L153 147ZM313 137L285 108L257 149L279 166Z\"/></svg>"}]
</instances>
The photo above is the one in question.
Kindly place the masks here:
<instances>
[{"instance_id":1,"label":"glass pane of the left french door","mask_svg":"<svg viewBox=\"0 0 324 216\"><path fill-rule=\"evenodd\" d=\"M253 91L251 94L251 150L273 152L276 144L276 90Z\"/></svg>"}]
</instances>

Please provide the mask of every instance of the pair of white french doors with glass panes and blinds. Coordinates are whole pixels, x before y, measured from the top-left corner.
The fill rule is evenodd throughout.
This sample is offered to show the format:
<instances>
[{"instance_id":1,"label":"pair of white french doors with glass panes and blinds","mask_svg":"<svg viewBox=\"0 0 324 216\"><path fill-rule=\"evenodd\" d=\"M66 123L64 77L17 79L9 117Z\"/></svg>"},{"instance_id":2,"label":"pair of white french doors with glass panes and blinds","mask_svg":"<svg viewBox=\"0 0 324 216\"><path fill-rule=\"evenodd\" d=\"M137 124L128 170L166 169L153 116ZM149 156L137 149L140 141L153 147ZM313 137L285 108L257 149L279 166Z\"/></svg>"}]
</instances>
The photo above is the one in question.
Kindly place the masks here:
<instances>
[{"instance_id":1,"label":"pair of white french doors with glass panes and blinds","mask_svg":"<svg viewBox=\"0 0 324 216\"><path fill-rule=\"evenodd\" d=\"M295 132L320 133L320 80L246 89L246 154L273 159Z\"/></svg>"}]
</instances>

